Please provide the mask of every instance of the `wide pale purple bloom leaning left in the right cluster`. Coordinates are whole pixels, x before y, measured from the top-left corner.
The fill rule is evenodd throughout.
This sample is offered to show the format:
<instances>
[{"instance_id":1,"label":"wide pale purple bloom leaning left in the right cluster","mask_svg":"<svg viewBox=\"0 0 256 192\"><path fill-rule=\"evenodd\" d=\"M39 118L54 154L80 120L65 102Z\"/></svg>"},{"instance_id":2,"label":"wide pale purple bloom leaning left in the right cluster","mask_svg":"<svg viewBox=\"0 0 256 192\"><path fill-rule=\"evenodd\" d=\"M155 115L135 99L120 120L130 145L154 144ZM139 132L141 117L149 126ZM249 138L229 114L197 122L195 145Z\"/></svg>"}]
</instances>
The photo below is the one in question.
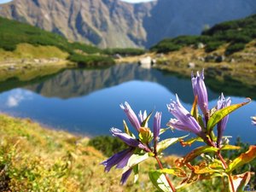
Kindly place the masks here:
<instances>
[{"instance_id":1,"label":"wide pale purple bloom leaning left in the right cluster","mask_svg":"<svg viewBox=\"0 0 256 192\"><path fill-rule=\"evenodd\" d=\"M179 102L178 96L177 102L172 101L167 108L169 112L172 113L176 119L171 119L167 125L172 126L173 128L179 131L191 131L194 132L197 136L206 139L205 133L201 130L201 126L195 120L195 118L183 107Z\"/></svg>"}]
</instances>

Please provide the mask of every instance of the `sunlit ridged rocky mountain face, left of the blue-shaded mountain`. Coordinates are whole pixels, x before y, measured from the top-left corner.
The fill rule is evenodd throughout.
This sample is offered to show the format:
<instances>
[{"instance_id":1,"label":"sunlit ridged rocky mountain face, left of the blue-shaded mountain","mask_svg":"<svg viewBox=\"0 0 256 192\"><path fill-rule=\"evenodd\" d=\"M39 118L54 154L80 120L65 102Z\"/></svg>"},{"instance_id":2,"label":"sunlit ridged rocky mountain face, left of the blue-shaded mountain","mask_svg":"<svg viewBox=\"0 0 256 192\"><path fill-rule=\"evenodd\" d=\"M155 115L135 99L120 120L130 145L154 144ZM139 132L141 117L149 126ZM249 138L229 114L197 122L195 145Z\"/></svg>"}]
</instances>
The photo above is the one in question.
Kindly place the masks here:
<instances>
[{"instance_id":1,"label":"sunlit ridged rocky mountain face, left of the blue-shaded mountain","mask_svg":"<svg viewBox=\"0 0 256 192\"><path fill-rule=\"evenodd\" d=\"M154 3L133 5L119 0L15 0L0 15L101 47L145 44L143 18Z\"/></svg>"}]
</instances>

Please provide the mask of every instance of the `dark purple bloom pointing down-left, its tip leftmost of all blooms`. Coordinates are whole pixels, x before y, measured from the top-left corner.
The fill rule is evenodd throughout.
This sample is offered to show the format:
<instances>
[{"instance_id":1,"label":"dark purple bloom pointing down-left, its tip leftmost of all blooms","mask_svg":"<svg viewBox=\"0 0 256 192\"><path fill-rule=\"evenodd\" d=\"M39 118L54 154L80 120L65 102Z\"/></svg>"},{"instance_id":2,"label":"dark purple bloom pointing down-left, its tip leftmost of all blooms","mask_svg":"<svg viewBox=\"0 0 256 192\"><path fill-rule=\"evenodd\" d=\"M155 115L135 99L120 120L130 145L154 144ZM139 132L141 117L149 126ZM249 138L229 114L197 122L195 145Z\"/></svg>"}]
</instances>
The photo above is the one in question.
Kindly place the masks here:
<instances>
[{"instance_id":1,"label":"dark purple bloom pointing down-left, its tip leftmost of all blooms","mask_svg":"<svg viewBox=\"0 0 256 192\"><path fill-rule=\"evenodd\" d=\"M108 160L104 160L101 164L105 166L105 172L109 172L113 166L119 169L124 168L133 154L134 149L135 148L126 148L117 154L113 154Z\"/></svg>"}]
</instances>

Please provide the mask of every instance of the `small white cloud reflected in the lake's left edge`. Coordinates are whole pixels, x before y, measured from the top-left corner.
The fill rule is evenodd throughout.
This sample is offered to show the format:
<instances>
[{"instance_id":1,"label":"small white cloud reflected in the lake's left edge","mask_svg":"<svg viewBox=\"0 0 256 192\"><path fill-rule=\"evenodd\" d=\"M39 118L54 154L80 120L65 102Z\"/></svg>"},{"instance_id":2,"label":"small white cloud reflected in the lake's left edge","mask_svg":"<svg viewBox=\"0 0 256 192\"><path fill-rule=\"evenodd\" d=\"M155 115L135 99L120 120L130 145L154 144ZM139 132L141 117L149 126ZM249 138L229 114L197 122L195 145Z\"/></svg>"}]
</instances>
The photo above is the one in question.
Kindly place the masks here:
<instances>
[{"instance_id":1,"label":"small white cloud reflected in the lake's left edge","mask_svg":"<svg viewBox=\"0 0 256 192\"><path fill-rule=\"evenodd\" d=\"M30 100L32 99L32 93L27 90L14 90L13 93L9 95L7 98L6 105L9 108L15 108L20 105L20 102L23 100Z\"/></svg>"}]
</instances>

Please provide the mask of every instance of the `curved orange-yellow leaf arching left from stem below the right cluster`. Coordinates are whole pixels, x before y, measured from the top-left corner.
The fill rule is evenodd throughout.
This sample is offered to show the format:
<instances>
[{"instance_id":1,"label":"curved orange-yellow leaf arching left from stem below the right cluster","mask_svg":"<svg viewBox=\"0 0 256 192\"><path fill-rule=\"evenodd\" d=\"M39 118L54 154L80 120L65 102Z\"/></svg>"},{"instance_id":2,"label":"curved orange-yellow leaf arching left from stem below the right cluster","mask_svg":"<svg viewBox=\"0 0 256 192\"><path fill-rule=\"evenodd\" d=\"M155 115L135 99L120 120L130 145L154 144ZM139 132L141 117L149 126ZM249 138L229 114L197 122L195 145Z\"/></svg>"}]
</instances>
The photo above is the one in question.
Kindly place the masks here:
<instances>
[{"instance_id":1,"label":"curved orange-yellow leaf arching left from stem below the right cluster","mask_svg":"<svg viewBox=\"0 0 256 192\"><path fill-rule=\"evenodd\" d=\"M204 154L208 152L217 152L217 151L218 151L218 148L213 148L210 146L202 146L199 148L195 148L189 154L186 154L186 156L182 158L182 160L179 162L180 166L183 166L184 164L189 163L191 160L194 160L195 157L197 157L200 154Z\"/></svg>"}]
</instances>

